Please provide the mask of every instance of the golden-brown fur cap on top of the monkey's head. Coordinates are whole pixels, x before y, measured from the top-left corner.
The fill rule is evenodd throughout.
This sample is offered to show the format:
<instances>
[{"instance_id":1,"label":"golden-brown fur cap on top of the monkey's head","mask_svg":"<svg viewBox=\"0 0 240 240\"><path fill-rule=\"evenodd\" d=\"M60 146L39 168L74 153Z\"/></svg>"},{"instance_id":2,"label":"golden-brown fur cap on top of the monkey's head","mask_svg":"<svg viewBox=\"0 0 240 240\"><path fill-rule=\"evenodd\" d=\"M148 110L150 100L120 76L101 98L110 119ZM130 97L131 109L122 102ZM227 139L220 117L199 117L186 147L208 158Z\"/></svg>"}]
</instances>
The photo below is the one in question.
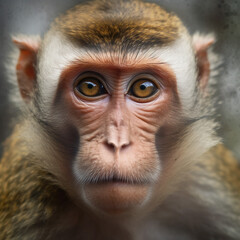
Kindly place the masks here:
<instances>
[{"instance_id":1,"label":"golden-brown fur cap on top of the monkey's head","mask_svg":"<svg viewBox=\"0 0 240 240\"><path fill-rule=\"evenodd\" d=\"M137 0L80 4L57 18L54 25L83 47L125 50L169 44L183 28L174 14Z\"/></svg>"}]
</instances>

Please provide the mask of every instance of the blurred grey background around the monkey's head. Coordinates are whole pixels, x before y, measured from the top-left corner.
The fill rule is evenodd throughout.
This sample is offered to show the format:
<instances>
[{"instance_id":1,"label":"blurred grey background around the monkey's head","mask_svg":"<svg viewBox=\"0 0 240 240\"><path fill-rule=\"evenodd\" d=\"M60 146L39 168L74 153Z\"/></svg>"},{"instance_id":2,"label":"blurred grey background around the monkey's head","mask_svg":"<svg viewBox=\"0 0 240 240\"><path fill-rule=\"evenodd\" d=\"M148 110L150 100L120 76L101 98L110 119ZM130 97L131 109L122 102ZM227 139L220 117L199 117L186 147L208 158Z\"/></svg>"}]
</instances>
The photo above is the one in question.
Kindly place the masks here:
<instances>
[{"instance_id":1,"label":"blurred grey background around the monkey's head","mask_svg":"<svg viewBox=\"0 0 240 240\"><path fill-rule=\"evenodd\" d=\"M49 23L80 0L0 0L0 143L11 132L14 108L8 102L5 61L11 50L11 34L40 34ZM224 57L218 78L218 107L222 127L219 134L240 160L240 1L239 0L155 0L175 12L191 33L213 32L217 36L214 51ZM2 146L0 146L0 155Z\"/></svg>"}]
</instances>

